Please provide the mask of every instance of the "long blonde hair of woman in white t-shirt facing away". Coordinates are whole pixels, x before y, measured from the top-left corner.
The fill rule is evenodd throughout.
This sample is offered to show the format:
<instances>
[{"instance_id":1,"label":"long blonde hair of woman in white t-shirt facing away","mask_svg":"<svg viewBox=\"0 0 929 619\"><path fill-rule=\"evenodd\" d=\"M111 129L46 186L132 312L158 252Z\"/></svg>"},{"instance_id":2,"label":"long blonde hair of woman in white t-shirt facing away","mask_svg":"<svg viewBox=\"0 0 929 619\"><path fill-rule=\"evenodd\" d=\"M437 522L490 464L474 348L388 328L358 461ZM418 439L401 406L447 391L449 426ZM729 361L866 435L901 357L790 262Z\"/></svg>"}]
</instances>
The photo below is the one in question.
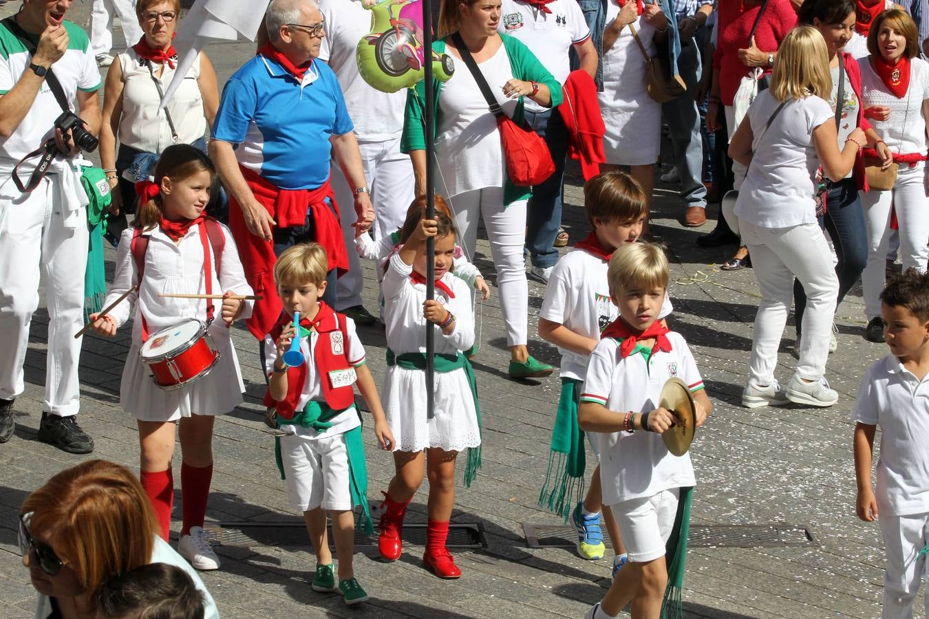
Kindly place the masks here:
<instances>
[{"instance_id":1,"label":"long blonde hair of woman in white t-shirt facing away","mask_svg":"<svg viewBox=\"0 0 929 619\"><path fill-rule=\"evenodd\" d=\"M802 99L811 94L829 100L832 92L829 50L816 28L797 26L780 42L769 90L779 101Z\"/></svg>"}]
</instances>

